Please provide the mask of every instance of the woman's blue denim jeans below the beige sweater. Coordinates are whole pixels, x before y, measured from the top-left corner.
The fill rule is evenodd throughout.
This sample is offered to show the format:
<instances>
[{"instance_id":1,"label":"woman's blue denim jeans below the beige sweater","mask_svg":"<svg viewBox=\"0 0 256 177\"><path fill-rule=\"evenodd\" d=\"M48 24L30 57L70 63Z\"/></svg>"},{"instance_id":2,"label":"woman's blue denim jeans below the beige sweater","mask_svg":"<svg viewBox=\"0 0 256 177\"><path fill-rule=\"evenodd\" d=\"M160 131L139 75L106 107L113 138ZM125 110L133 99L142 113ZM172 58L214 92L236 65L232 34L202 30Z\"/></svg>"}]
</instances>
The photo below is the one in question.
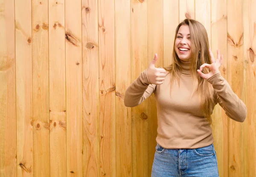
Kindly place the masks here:
<instances>
[{"instance_id":1,"label":"woman's blue denim jeans below the beige sweater","mask_svg":"<svg viewBox=\"0 0 256 177\"><path fill-rule=\"evenodd\" d=\"M151 177L219 177L213 144L198 149L156 146Z\"/></svg>"}]
</instances>

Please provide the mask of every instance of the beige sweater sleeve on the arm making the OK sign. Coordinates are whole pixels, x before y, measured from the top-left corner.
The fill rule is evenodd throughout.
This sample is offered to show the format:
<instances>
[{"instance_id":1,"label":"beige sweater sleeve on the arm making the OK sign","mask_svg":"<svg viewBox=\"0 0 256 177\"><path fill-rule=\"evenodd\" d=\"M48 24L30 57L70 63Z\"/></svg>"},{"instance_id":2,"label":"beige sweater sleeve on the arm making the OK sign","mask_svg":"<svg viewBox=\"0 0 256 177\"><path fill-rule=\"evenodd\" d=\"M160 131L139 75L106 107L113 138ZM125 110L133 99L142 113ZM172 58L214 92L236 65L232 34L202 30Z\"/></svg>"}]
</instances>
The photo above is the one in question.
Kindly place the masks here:
<instances>
[{"instance_id":1,"label":"beige sweater sleeve on the arm making the OK sign","mask_svg":"<svg viewBox=\"0 0 256 177\"><path fill-rule=\"evenodd\" d=\"M235 121L243 122L247 115L246 105L233 92L228 82L221 76L221 73L215 74L207 81L212 84L215 90L215 99L225 110L226 115Z\"/></svg>"}]
</instances>

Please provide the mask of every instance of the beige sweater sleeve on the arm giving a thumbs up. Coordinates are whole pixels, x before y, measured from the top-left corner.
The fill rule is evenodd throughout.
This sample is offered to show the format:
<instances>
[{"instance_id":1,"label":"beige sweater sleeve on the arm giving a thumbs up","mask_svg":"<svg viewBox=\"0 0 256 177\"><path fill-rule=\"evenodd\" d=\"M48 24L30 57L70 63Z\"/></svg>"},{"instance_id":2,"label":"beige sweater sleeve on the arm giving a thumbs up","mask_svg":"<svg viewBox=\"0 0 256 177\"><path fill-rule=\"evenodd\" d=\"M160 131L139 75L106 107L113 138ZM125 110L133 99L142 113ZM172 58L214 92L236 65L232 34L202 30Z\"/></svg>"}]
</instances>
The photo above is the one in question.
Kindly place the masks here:
<instances>
[{"instance_id":1,"label":"beige sweater sleeve on the arm giving a thumbs up","mask_svg":"<svg viewBox=\"0 0 256 177\"><path fill-rule=\"evenodd\" d=\"M125 106L135 107L141 104L146 98L151 96L155 88L156 85L150 84L147 77L147 71L144 70L142 73L140 73L140 76L125 90Z\"/></svg>"}]
</instances>

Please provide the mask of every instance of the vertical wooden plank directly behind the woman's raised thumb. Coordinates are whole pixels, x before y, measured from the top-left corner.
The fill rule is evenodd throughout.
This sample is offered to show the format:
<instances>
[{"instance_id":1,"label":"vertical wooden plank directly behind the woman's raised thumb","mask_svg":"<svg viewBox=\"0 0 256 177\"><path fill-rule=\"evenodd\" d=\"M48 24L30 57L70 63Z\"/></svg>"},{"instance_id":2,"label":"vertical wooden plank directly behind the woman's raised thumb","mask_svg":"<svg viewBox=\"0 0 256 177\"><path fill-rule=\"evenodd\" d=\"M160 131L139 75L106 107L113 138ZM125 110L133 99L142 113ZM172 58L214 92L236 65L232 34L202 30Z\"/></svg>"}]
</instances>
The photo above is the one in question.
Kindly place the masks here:
<instances>
[{"instance_id":1,"label":"vertical wooden plank directly behind the woman's raised thumb","mask_svg":"<svg viewBox=\"0 0 256 177\"><path fill-rule=\"evenodd\" d=\"M157 53L156 67L163 67L163 0L149 0L148 12L148 63ZM157 15L156 15L157 12ZM151 174L157 137L157 106L152 94L148 98L148 174Z\"/></svg>"}]
</instances>

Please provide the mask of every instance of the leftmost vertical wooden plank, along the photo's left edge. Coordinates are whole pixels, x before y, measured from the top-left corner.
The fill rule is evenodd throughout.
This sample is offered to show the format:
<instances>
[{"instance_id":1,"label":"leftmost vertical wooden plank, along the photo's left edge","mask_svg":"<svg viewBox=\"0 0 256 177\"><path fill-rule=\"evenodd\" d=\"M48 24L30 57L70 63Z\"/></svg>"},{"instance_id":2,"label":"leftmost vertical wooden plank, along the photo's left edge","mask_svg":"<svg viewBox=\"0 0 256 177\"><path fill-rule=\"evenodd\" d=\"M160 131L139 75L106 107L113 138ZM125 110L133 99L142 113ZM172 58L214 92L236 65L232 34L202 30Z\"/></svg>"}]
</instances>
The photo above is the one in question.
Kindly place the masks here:
<instances>
[{"instance_id":1,"label":"leftmost vertical wooden plank, along the photo's left edge","mask_svg":"<svg viewBox=\"0 0 256 177\"><path fill-rule=\"evenodd\" d=\"M0 175L17 176L15 1L0 0Z\"/></svg>"}]
</instances>

